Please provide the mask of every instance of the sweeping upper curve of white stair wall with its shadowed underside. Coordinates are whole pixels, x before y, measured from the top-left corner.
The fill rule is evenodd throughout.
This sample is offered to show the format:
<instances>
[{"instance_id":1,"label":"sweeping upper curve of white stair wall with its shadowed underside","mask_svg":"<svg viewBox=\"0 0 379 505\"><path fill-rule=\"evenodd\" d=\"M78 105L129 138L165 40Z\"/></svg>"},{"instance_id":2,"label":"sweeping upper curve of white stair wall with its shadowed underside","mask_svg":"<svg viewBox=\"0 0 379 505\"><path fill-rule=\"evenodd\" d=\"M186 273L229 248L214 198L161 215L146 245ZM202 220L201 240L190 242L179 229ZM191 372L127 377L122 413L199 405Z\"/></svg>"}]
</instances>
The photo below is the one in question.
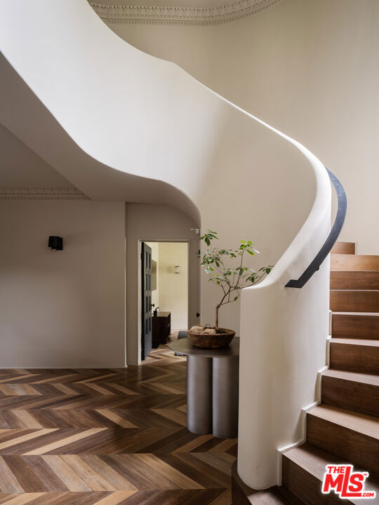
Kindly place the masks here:
<instances>
[{"instance_id":1,"label":"sweeping upper curve of white stair wall with its shadowed underside","mask_svg":"<svg viewBox=\"0 0 379 505\"><path fill-rule=\"evenodd\" d=\"M169 201L197 222L201 210L203 227L218 229L225 245L252 238L260 263L277 262L314 198L298 149L177 66L121 41L84 0L64 8L15 0L1 23L4 55L50 111L6 66L9 130L92 198ZM214 297L202 299L201 317L212 321ZM225 308L221 323L238 331L238 307Z\"/></svg>"}]
</instances>

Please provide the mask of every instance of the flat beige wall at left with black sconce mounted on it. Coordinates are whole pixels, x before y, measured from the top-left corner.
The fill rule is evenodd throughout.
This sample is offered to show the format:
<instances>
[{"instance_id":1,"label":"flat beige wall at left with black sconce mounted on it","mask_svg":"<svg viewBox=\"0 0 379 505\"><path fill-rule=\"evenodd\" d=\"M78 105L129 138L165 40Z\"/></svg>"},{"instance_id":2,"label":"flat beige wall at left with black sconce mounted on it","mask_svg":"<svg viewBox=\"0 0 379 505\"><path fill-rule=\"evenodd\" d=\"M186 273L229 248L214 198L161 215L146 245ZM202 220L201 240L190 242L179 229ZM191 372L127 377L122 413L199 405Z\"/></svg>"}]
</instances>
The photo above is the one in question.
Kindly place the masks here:
<instances>
[{"instance_id":1,"label":"flat beige wall at left with black sconce mounted on it","mask_svg":"<svg viewBox=\"0 0 379 505\"><path fill-rule=\"evenodd\" d=\"M124 367L124 222L118 202L0 202L0 367Z\"/></svg>"}]
</instances>

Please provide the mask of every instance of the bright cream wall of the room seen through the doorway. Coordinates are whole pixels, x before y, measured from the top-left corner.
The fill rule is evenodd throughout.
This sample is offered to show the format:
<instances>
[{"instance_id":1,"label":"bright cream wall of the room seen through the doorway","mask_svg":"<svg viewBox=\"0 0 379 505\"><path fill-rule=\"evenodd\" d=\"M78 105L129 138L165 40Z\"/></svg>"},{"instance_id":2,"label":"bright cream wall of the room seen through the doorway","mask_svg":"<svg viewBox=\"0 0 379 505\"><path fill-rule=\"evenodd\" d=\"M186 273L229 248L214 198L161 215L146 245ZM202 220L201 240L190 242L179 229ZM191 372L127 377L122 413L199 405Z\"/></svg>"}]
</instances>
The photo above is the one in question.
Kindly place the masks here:
<instances>
[{"instance_id":1,"label":"bright cream wall of the room seen through the doorway","mask_svg":"<svg viewBox=\"0 0 379 505\"><path fill-rule=\"evenodd\" d=\"M174 266L180 265L180 274ZM188 243L159 242L159 309L171 312L171 328L188 328Z\"/></svg>"}]
</instances>

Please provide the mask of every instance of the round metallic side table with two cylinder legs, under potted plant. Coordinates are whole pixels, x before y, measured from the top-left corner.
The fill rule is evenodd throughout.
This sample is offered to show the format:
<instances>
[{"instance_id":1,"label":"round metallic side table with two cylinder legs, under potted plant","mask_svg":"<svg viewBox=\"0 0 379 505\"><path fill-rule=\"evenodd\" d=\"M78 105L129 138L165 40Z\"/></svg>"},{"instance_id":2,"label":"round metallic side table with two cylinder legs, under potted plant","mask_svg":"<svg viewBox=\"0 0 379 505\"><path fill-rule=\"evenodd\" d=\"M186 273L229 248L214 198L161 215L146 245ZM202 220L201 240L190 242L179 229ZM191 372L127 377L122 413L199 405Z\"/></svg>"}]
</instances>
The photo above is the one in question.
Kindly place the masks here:
<instances>
[{"instance_id":1,"label":"round metallic side table with two cylinder legs, under potted plant","mask_svg":"<svg viewBox=\"0 0 379 505\"><path fill-rule=\"evenodd\" d=\"M238 434L239 338L220 349L195 347L188 339L168 344L187 354L187 428L219 438Z\"/></svg>"}]
</instances>

